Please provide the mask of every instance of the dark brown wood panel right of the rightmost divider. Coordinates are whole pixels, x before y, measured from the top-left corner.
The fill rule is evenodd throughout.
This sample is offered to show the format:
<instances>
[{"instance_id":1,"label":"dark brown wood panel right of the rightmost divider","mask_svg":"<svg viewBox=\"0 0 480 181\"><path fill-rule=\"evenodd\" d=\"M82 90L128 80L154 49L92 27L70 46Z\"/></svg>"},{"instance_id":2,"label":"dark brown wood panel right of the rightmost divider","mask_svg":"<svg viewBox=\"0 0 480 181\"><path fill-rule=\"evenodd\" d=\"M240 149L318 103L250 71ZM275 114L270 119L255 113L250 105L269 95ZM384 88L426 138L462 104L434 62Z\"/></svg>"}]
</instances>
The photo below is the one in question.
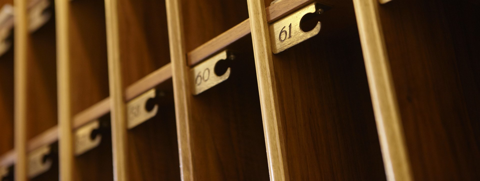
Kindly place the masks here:
<instances>
[{"instance_id":1,"label":"dark brown wood panel right of the rightmost divider","mask_svg":"<svg viewBox=\"0 0 480 181\"><path fill-rule=\"evenodd\" d=\"M415 180L480 179L478 8L466 0L380 6Z\"/></svg>"}]
</instances>

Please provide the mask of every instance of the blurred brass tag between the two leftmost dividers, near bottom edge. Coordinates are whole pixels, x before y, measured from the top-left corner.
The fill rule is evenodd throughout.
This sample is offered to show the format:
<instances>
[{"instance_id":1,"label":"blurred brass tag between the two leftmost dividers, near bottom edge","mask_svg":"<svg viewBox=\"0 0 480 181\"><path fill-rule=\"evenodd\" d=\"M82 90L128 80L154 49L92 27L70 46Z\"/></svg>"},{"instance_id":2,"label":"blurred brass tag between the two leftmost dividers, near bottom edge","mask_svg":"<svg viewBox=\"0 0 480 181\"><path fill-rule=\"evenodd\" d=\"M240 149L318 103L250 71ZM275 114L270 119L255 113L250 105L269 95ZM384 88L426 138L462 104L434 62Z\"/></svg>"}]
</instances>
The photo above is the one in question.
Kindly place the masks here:
<instances>
[{"instance_id":1,"label":"blurred brass tag between the two leftmost dividers, near bottom edge","mask_svg":"<svg viewBox=\"0 0 480 181\"><path fill-rule=\"evenodd\" d=\"M52 160L44 157L50 154L51 147L44 145L28 154L28 177L34 178L42 173L45 173L52 166Z\"/></svg>"}]
</instances>

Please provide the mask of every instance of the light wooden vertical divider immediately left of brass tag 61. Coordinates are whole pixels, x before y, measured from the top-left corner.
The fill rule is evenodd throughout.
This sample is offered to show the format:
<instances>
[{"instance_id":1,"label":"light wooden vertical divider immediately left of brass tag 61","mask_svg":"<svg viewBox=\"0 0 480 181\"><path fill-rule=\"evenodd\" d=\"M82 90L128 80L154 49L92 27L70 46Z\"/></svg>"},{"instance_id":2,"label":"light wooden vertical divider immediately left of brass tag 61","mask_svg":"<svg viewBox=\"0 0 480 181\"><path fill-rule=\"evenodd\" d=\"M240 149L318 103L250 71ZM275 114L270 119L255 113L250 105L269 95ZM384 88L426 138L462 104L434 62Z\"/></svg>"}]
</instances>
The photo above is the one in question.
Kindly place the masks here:
<instances>
[{"instance_id":1,"label":"light wooden vertical divider immediately left of brass tag 61","mask_svg":"<svg viewBox=\"0 0 480 181\"><path fill-rule=\"evenodd\" d=\"M263 0L247 0L252 29L253 55L257 72L260 107L264 124L265 146L270 180L285 181L288 168L285 158L284 136L281 132L272 47Z\"/></svg>"}]
</instances>

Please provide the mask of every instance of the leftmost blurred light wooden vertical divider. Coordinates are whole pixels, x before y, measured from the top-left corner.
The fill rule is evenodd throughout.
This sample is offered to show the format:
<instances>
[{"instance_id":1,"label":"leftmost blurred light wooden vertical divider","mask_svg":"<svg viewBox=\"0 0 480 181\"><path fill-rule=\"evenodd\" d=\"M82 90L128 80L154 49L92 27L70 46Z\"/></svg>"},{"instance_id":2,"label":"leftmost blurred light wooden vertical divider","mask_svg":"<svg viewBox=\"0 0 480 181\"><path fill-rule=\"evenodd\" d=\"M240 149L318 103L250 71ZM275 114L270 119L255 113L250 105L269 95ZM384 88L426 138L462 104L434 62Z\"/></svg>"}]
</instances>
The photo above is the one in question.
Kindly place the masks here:
<instances>
[{"instance_id":1,"label":"leftmost blurred light wooden vertical divider","mask_svg":"<svg viewBox=\"0 0 480 181\"><path fill-rule=\"evenodd\" d=\"M27 180L27 36L26 0L14 0L14 149L16 152L15 180Z\"/></svg>"}]
</instances>

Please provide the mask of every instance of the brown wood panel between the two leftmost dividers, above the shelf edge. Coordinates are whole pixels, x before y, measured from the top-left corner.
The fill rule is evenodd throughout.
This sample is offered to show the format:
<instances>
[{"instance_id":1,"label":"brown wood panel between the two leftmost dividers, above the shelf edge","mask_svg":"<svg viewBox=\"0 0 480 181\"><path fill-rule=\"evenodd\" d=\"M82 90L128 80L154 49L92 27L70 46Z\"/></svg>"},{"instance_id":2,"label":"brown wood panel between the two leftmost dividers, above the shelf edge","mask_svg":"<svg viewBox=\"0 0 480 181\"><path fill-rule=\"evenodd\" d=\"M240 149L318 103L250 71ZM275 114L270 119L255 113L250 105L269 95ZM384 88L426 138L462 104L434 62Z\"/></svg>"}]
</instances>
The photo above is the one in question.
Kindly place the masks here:
<instances>
[{"instance_id":1,"label":"brown wood panel between the two leftmost dividers, above the shelf edge","mask_svg":"<svg viewBox=\"0 0 480 181\"><path fill-rule=\"evenodd\" d=\"M53 1L51 2L53 4ZM51 19L27 43L27 139L57 125L57 69L54 9Z\"/></svg>"}]
</instances>

